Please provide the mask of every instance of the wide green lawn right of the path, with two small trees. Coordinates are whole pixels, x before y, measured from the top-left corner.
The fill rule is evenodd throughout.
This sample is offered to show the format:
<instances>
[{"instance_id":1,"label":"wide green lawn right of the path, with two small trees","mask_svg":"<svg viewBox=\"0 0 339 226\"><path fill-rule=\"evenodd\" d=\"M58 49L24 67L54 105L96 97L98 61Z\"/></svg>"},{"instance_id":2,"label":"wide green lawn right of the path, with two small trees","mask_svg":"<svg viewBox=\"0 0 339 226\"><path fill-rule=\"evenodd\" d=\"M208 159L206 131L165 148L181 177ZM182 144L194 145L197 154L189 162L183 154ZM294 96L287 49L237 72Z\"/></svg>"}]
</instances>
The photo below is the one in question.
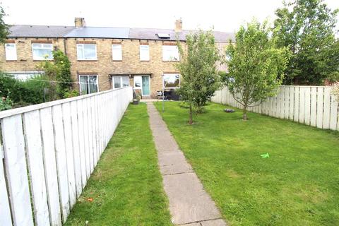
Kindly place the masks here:
<instances>
[{"instance_id":1,"label":"wide green lawn right of the path, with two small trees","mask_svg":"<svg viewBox=\"0 0 339 226\"><path fill-rule=\"evenodd\" d=\"M162 113L223 217L231 225L338 225L338 132L254 113L242 121L239 109L223 108L208 105L193 126L179 102Z\"/></svg>"}]
</instances>

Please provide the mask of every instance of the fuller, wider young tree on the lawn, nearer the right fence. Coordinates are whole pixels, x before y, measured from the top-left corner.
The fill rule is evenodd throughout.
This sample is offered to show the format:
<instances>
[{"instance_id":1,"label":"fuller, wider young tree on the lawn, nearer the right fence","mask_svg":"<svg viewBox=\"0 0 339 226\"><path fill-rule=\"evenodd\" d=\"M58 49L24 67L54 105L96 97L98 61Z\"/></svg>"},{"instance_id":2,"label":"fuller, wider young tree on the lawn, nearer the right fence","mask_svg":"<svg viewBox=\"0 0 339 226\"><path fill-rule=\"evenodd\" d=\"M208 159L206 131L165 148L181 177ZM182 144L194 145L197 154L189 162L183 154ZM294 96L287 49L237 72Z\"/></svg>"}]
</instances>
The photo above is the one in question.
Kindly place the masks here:
<instances>
[{"instance_id":1,"label":"fuller, wider young tree on the lawn, nearer the right fence","mask_svg":"<svg viewBox=\"0 0 339 226\"><path fill-rule=\"evenodd\" d=\"M243 106L243 119L247 108L275 95L283 79L288 50L278 48L267 23L256 20L241 26L226 50L228 73L225 83L234 100Z\"/></svg>"}]
</instances>

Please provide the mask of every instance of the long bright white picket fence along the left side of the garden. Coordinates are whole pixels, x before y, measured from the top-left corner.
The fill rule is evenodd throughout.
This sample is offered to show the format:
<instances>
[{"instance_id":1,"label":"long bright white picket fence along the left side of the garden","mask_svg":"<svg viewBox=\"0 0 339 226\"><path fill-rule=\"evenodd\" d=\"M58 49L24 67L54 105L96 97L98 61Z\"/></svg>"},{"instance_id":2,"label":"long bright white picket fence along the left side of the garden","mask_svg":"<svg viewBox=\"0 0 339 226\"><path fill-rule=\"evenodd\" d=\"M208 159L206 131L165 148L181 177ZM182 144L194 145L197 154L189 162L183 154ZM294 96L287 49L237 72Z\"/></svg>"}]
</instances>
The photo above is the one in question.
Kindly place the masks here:
<instances>
[{"instance_id":1,"label":"long bright white picket fence along the left side of the garden","mask_svg":"<svg viewBox=\"0 0 339 226\"><path fill-rule=\"evenodd\" d=\"M0 112L0 225L66 222L131 100L128 87Z\"/></svg>"}]
</instances>

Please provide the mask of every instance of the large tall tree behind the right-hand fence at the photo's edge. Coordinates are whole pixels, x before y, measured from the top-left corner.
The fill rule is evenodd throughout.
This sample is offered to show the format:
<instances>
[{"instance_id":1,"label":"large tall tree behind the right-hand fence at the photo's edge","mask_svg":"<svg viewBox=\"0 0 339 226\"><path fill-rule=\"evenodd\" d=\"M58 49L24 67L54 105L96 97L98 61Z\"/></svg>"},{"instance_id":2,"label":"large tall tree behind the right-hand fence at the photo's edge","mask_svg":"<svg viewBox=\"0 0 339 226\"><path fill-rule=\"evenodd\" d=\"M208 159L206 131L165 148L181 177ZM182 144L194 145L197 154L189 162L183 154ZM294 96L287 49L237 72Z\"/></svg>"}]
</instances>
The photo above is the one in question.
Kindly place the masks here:
<instances>
[{"instance_id":1,"label":"large tall tree behind the right-hand fence at the photo's edge","mask_svg":"<svg viewBox=\"0 0 339 226\"><path fill-rule=\"evenodd\" d=\"M338 10L323 0L284 2L275 12L278 45L289 47L292 57L285 69L284 83L321 85L339 79L339 40L335 39Z\"/></svg>"}]
</instances>

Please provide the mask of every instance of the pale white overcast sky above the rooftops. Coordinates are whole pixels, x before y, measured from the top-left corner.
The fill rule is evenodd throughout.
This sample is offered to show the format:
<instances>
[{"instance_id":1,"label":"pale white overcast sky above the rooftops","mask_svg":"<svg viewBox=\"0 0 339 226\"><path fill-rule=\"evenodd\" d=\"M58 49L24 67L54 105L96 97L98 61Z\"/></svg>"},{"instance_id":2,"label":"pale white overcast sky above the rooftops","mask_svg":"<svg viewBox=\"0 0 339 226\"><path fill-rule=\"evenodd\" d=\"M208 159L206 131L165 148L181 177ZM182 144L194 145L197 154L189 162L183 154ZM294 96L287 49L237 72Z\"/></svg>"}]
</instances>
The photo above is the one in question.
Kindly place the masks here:
<instances>
[{"instance_id":1,"label":"pale white overcast sky above the rooftops","mask_svg":"<svg viewBox=\"0 0 339 226\"><path fill-rule=\"evenodd\" d=\"M2 0L2 6L8 14L8 24L73 25L74 17L83 17L88 26L173 29L174 20L182 18L183 29L214 27L234 32L253 17L272 21L282 1ZM333 9L339 8L339 0L325 2Z\"/></svg>"}]
</instances>

